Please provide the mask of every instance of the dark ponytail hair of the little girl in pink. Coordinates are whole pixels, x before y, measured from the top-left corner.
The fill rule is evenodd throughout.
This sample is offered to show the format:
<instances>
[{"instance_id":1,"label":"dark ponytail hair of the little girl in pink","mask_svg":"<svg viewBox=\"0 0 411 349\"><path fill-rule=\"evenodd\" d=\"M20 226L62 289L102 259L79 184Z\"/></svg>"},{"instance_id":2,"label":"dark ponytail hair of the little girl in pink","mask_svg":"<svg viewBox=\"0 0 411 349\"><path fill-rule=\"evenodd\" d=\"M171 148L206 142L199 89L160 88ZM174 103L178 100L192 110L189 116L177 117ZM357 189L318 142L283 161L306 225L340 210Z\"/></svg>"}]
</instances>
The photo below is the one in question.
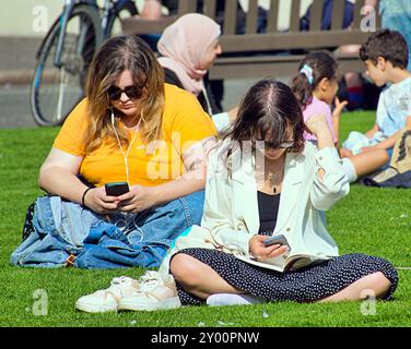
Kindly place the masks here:
<instances>
[{"instance_id":1,"label":"dark ponytail hair of the little girl in pink","mask_svg":"<svg viewBox=\"0 0 411 349\"><path fill-rule=\"evenodd\" d=\"M306 74L301 70L304 65L313 69L313 83L310 84ZM298 74L292 81L292 89L303 110L313 100L313 92L317 88L322 79L336 80L338 63L332 55L326 50L310 52L304 57L298 64Z\"/></svg>"}]
</instances>

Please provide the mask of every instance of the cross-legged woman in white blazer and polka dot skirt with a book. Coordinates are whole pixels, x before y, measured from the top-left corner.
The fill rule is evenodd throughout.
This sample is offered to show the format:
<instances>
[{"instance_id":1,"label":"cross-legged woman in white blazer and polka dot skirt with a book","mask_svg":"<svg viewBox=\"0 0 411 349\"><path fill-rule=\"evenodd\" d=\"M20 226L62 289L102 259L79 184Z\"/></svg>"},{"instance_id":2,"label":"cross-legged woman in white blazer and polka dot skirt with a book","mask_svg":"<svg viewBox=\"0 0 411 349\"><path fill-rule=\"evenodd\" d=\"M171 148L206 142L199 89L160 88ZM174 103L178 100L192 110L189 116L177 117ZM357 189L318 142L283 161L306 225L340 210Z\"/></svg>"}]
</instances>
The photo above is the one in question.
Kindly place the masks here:
<instances>
[{"instance_id":1,"label":"cross-legged woman in white blazer and polka dot skirt with a book","mask_svg":"<svg viewBox=\"0 0 411 349\"><path fill-rule=\"evenodd\" d=\"M359 300L363 290L391 297L391 264L339 256L327 232L324 210L349 193L349 182L325 118L307 127L318 148L304 143L301 108L286 85L265 80L247 93L233 130L210 155L201 227L164 261L183 304ZM265 245L278 234L285 244Z\"/></svg>"}]
</instances>

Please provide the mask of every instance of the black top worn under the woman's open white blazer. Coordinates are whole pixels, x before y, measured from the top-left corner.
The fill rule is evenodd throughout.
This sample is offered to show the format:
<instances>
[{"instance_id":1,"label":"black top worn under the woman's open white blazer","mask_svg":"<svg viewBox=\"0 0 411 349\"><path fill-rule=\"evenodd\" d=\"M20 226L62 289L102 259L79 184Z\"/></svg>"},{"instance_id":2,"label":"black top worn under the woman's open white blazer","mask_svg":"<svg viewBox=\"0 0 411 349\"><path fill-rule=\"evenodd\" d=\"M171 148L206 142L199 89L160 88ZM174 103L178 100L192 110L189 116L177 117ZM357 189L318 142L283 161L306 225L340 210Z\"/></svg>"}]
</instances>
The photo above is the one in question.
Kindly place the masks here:
<instances>
[{"instance_id":1,"label":"black top worn under the woman's open white blazer","mask_svg":"<svg viewBox=\"0 0 411 349\"><path fill-rule=\"evenodd\" d=\"M258 212L260 216L260 230L258 233L271 233L275 229L281 194L269 195L260 191L258 191L257 194Z\"/></svg>"}]
</instances>

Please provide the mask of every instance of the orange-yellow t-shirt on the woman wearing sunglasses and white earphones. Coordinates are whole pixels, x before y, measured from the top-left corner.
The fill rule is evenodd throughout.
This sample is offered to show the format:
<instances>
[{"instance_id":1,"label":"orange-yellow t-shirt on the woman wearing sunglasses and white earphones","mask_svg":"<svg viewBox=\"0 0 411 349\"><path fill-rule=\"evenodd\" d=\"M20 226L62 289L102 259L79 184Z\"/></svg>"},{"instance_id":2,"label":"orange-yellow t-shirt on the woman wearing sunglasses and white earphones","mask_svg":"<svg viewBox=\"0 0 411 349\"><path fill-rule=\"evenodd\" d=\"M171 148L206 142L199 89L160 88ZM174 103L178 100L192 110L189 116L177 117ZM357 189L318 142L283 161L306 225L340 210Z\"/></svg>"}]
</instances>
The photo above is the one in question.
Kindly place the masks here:
<instances>
[{"instance_id":1,"label":"orange-yellow t-shirt on the woman wearing sunglasses and white earphones","mask_svg":"<svg viewBox=\"0 0 411 349\"><path fill-rule=\"evenodd\" d=\"M183 153L192 144L216 136L211 118L203 111L197 98L176 86L165 84L165 105L162 123L162 140L149 154L138 134L128 155L130 184L160 185L184 172ZM87 130L87 100L83 99L69 115L54 147L83 157L80 174L96 186L108 182L126 181L125 156L116 140L103 141L91 154L85 154L83 144ZM130 132L130 143L134 136ZM127 154L124 145L124 152Z\"/></svg>"}]
</instances>

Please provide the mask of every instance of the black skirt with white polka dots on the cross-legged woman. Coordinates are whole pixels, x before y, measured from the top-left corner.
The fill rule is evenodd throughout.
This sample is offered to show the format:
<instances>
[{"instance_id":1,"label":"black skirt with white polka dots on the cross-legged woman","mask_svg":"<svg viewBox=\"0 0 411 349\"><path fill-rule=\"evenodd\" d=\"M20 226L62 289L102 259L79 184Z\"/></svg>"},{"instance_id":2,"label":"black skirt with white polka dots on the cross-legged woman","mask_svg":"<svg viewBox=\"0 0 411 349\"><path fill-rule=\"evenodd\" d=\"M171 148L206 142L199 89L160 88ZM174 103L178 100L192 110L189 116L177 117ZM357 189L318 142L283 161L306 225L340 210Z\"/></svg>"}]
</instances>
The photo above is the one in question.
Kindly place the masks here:
<instances>
[{"instance_id":1,"label":"black skirt with white polka dots on the cross-legged woman","mask_svg":"<svg viewBox=\"0 0 411 349\"><path fill-rule=\"evenodd\" d=\"M398 284L397 270L389 262L366 254L348 254L295 272L279 273L215 250L186 249L179 253L211 266L233 287L270 301L318 301L377 272L381 272L391 281L391 287L384 297L389 300ZM204 302L186 292L178 282L177 290L183 304Z\"/></svg>"}]
</instances>

